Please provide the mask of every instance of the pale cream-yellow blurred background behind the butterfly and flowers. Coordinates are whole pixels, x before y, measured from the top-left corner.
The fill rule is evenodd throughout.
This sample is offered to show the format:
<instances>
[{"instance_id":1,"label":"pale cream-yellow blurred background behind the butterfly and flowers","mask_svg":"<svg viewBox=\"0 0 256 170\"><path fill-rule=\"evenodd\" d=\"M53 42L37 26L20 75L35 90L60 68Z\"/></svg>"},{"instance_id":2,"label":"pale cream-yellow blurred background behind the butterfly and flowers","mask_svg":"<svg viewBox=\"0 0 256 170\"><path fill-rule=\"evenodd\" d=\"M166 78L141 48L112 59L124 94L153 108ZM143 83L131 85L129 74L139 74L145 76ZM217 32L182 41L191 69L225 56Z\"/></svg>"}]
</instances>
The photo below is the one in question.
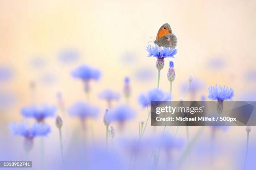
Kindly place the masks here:
<instances>
[{"instance_id":1,"label":"pale cream-yellow blurred background behind the butterfly and flowers","mask_svg":"<svg viewBox=\"0 0 256 170\"><path fill-rule=\"evenodd\" d=\"M87 64L102 72L101 79L91 83L91 103L101 107L95 135L103 138L105 133L102 114L106 103L99 100L97 94L107 87L122 93L125 76L131 77L130 103L138 114L136 120L128 123L125 132L136 135L138 121L146 119L146 110L138 106L138 94L156 87L156 78L138 82L132 76L140 67L152 67L156 71L156 59L146 57L145 47L152 40L150 36L156 37L164 23L171 25L178 38L178 53L173 59L177 75L173 82L174 100L182 96L179 85L190 74L206 83L197 100L200 95L207 95L207 86L215 83L232 87L234 100L238 100L243 92L255 91L255 82L244 79L244 73L255 68L255 9L255 0L0 0L0 63L14 68L14 80L1 85L1 89L11 90L18 96L13 108L1 115L4 117L1 123L6 128L10 122L23 120L19 112L24 105L33 102L55 104L58 91L63 93L67 106L85 100L82 82L74 80L70 71L80 64ZM78 63L59 63L57 54L66 48L75 48L82 53ZM135 53L136 61L130 65L121 63L120 57L125 52ZM35 70L29 65L35 56L46 59L45 68ZM214 57L221 57L227 63L223 70L207 67L207 62ZM168 91L169 59L165 61L160 88ZM37 84L34 96L29 90L29 82L37 82L46 72L57 75L57 83L52 86ZM185 100L189 100L189 96ZM120 102L124 101L122 97ZM78 123L73 119L69 121ZM53 119L48 122L54 127ZM194 129L191 128L191 136ZM173 132L174 128L171 130ZM7 130L6 133L10 132ZM54 137L56 134L54 129L51 141L57 138ZM251 134L254 138L254 128ZM179 135L185 138L184 128L180 129ZM221 132L221 138L245 143L245 127ZM227 164L223 166L230 168Z\"/></svg>"}]
</instances>

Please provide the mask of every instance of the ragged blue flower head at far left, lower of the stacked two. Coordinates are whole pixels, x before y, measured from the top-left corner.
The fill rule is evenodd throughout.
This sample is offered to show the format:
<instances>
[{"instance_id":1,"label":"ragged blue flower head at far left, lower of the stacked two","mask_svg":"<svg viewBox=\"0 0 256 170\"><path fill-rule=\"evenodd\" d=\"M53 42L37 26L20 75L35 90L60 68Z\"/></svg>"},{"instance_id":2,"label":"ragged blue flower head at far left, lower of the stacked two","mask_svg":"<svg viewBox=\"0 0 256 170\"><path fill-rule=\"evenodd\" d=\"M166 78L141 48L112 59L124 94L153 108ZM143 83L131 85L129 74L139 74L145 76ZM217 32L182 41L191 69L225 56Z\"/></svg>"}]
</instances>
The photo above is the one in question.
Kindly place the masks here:
<instances>
[{"instance_id":1,"label":"ragged blue flower head at far left, lower of the stacked two","mask_svg":"<svg viewBox=\"0 0 256 170\"><path fill-rule=\"evenodd\" d=\"M9 127L13 135L24 136L25 138L46 136L51 132L50 126L43 123L34 123L33 126L29 126L25 122L21 122L20 124L11 123Z\"/></svg>"}]
</instances>

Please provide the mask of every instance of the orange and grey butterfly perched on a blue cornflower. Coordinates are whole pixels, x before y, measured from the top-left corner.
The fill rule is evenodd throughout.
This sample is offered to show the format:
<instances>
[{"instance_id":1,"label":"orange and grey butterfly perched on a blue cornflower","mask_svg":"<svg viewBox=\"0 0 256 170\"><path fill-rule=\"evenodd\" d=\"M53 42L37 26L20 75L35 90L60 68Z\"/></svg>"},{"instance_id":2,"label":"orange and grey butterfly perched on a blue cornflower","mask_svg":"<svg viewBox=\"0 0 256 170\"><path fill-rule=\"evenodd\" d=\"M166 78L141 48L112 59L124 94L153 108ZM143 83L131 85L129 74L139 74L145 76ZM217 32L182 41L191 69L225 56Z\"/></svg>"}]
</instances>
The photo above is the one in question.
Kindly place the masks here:
<instances>
[{"instance_id":1,"label":"orange and grey butterfly perched on a blue cornflower","mask_svg":"<svg viewBox=\"0 0 256 170\"><path fill-rule=\"evenodd\" d=\"M166 23L160 27L154 43L159 47L176 47L177 37L172 33L172 29L169 24Z\"/></svg>"}]
</instances>

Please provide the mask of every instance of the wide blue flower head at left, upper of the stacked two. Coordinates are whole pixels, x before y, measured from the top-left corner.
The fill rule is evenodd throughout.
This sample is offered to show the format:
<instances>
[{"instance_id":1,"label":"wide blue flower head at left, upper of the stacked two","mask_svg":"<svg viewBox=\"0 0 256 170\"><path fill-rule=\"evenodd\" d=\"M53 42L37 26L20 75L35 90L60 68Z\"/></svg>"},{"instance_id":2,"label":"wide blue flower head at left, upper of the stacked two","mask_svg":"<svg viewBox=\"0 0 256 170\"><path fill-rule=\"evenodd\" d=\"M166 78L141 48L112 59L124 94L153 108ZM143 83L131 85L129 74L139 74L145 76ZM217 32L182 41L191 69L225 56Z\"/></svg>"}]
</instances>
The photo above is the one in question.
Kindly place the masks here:
<instances>
[{"instance_id":1,"label":"wide blue flower head at left, upper of the stacked two","mask_svg":"<svg viewBox=\"0 0 256 170\"><path fill-rule=\"evenodd\" d=\"M36 105L26 106L21 109L21 114L24 117L33 117L38 122L43 122L46 117L53 117L56 112L56 107L54 105L41 105L37 107Z\"/></svg>"}]
</instances>

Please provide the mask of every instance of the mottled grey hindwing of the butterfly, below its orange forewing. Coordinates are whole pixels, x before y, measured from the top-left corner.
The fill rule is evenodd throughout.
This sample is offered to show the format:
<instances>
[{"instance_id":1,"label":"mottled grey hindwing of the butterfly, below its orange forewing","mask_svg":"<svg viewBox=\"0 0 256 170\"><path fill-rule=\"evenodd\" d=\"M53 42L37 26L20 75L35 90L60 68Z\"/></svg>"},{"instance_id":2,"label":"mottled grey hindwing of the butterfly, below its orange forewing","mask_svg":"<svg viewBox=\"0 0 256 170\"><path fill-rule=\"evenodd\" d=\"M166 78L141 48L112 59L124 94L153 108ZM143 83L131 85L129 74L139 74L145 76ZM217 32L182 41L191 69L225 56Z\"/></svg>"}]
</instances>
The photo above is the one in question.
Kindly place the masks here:
<instances>
[{"instance_id":1,"label":"mottled grey hindwing of the butterfly, below its orange forewing","mask_svg":"<svg viewBox=\"0 0 256 170\"><path fill-rule=\"evenodd\" d=\"M154 41L159 47L171 47L175 48L177 46L177 37L172 34L166 34L159 38L158 40Z\"/></svg>"}]
</instances>

